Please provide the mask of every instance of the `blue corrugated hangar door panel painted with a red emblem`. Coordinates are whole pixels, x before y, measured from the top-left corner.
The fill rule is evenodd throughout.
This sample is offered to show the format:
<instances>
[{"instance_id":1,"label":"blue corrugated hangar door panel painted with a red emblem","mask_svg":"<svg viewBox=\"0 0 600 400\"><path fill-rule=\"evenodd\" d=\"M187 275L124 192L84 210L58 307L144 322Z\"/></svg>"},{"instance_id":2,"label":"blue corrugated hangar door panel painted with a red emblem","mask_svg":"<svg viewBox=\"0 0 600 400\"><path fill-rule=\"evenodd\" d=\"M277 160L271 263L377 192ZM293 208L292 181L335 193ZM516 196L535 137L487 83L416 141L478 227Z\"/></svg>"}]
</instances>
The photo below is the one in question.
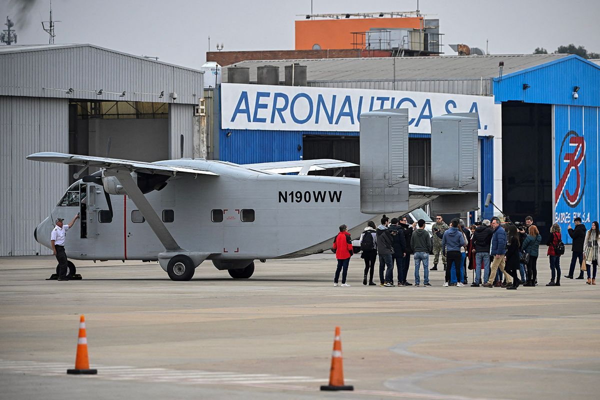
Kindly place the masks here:
<instances>
[{"instance_id":1,"label":"blue corrugated hangar door panel painted with a red emblem","mask_svg":"<svg viewBox=\"0 0 600 400\"><path fill-rule=\"evenodd\" d=\"M600 215L600 107L554 106L554 222L562 228L579 216L586 228Z\"/></svg>"}]
</instances>

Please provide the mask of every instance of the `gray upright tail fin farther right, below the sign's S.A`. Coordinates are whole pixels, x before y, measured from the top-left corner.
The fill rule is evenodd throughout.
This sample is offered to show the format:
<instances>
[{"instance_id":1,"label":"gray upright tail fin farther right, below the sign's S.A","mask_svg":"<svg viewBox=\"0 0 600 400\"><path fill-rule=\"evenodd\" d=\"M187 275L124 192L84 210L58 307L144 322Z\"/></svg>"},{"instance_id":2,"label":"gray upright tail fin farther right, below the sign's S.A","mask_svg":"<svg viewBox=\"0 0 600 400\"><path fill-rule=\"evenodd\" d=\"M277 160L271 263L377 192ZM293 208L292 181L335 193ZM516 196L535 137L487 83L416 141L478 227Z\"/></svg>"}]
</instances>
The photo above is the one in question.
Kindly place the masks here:
<instances>
[{"instance_id":1,"label":"gray upright tail fin farther right, below the sign's S.A","mask_svg":"<svg viewBox=\"0 0 600 400\"><path fill-rule=\"evenodd\" d=\"M436 213L478 209L479 157L477 113L454 113L431 119L431 186L470 193L433 200Z\"/></svg>"}]
</instances>

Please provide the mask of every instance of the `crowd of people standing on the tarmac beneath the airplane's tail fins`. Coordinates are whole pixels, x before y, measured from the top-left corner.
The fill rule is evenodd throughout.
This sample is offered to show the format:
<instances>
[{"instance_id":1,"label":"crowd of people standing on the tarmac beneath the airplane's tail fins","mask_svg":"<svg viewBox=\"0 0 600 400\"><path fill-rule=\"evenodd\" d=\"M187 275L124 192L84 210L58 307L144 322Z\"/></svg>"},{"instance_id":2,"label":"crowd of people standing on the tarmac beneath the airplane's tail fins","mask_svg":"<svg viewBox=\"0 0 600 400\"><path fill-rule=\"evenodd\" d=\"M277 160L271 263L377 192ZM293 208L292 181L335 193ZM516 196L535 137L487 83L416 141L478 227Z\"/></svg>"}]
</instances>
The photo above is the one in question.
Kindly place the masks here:
<instances>
[{"instance_id":1,"label":"crowd of people standing on the tarmac beneath the airplane's tail fins","mask_svg":"<svg viewBox=\"0 0 600 400\"><path fill-rule=\"evenodd\" d=\"M575 268L579 267L580 275L575 279L584 279L587 272L586 283L595 285L600 256L598 221L592 222L589 230L581 218L575 218L574 224L575 227L568 226L572 255L565 278L574 279ZM431 270L437 270L439 256L442 255L445 271L443 287L467 285L467 270L473 270L472 287L516 290L521 284L524 287L538 285L537 262L542 236L531 216L527 216L524 224L502 224L499 218L494 217L491 221L484 219L480 224L466 228L462 219L452 219L448 225L441 215L437 215L431 234L433 240L425 229L424 219L409 224L406 216L389 219L383 215L377 227L369 221L360 237L361 258L365 264L362 284L377 285L373 277L379 260L380 286L394 287L394 275L398 286L412 286L407 280L412 258L415 261L415 287L421 285L421 265L423 286L430 287L429 255L433 253ZM551 271L551 279L546 286L560 286L560 257L565 253L562 239L560 225L553 224L545 243ZM341 286L350 287L346 278L353 245L346 225L340 226L332 250L338 260L334 286L338 285L341 273Z\"/></svg>"}]
</instances>

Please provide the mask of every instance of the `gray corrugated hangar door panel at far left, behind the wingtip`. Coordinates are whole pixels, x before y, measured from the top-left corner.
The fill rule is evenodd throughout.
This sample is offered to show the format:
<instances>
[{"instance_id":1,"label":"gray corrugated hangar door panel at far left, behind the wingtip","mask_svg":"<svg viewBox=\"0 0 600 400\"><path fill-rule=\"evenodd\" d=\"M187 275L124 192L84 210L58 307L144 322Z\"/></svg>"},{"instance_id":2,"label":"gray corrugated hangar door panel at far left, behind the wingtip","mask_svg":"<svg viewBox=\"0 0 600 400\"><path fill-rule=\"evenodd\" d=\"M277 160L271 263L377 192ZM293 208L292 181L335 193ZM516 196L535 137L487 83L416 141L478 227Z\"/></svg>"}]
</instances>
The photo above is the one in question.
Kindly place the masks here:
<instances>
[{"instance_id":1,"label":"gray corrugated hangar door panel at far left, behind the wingtip","mask_svg":"<svg viewBox=\"0 0 600 400\"><path fill-rule=\"evenodd\" d=\"M67 166L25 157L68 151L67 100L0 96L0 137L0 255L51 254L33 233L67 189Z\"/></svg>"}]
</instances>

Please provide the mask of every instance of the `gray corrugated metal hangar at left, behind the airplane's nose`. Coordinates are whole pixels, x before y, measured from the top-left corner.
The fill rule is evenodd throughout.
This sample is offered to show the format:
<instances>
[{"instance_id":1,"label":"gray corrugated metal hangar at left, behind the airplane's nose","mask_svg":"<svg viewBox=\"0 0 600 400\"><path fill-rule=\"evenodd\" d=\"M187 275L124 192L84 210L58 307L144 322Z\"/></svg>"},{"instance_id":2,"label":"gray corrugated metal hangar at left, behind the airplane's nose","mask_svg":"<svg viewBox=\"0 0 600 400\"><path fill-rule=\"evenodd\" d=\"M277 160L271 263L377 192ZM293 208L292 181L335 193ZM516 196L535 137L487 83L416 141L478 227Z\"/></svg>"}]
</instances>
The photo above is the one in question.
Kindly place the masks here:
<instances>
[{"instance_id":1,"label":"gray corrugated metal hangar at left, behind the airplane's nose","mask_svg":"<svg viewBox=\"0 0 600 400\"><path fill-rule=\"evenodd\" d=\"M194 116L202 71L91 44L0 47L0 71L0 222L13 233L0 238L0 255L50 254L35 242L35 225L78 172L42 168L26 155L157 161L206 154Z\"/></svg>"}]
</instances>

